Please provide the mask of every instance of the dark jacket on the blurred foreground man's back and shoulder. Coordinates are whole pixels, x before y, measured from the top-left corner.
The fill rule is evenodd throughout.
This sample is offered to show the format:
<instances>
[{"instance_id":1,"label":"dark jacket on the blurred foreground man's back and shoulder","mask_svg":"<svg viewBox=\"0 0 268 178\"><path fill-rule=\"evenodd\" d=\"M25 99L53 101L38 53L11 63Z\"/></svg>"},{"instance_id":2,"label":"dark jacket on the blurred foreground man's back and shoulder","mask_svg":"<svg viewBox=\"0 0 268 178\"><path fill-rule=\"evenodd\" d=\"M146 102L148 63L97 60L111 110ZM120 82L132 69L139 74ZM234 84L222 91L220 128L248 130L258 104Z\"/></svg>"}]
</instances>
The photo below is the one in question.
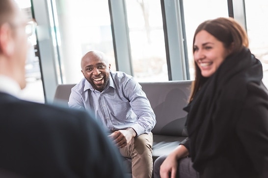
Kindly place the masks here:
<instances>
[{"instance_id":1,"label":"dark jacket on the blurred foreground man's back and shoulder","mask_svg":"<svg viewBox=\"0 0 268 178\"><path fill-rule=\"evenodd\" d=\"M122 178L121 156L86 111L0 93L0 174Z\"/></svg>"}]
</instances>

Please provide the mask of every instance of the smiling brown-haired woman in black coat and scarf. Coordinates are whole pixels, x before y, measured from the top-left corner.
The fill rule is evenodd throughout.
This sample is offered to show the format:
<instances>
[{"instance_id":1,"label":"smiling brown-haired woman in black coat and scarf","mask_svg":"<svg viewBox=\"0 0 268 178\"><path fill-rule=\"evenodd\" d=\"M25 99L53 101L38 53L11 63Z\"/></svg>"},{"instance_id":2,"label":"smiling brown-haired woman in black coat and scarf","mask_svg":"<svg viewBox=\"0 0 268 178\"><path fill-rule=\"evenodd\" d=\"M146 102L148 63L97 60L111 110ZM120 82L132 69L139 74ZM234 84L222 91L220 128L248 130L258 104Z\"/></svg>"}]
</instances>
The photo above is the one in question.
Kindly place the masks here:
<instances>
[{"instance_id":1,"label":"smiling brown-haired woman in black coat and scarf","mask_svg":"<svg viewBox=\"0 0 268 178\"><path fill-rule=\"evenodd\" d=\"M268 178L268 91L261 62L232 18L194 34L188 138L155 161L155 178Z\"/></svg>"}]
</instances>

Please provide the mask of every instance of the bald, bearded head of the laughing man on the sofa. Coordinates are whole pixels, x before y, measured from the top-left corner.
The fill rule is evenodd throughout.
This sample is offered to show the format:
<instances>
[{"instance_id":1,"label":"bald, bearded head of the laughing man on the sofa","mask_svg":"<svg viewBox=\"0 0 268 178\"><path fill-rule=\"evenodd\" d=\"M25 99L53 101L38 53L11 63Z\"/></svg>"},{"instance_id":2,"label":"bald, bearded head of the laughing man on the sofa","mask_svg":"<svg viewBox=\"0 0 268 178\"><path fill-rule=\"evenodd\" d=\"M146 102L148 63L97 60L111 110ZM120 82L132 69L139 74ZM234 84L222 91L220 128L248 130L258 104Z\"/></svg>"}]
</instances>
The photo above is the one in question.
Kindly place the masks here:
<instances>
[{"instance_id":1,"label":"bald, bearded head of the laughing man on the sofa","mask_svg":"<svg viewBox=\"0 0 268 178\"><path fill-rule=\"evenodd\" d=\"M81 72L94 89L103 91L110 76L107 56L100 51L87 52L81 59Z\"/></svg>"}]
</instances>

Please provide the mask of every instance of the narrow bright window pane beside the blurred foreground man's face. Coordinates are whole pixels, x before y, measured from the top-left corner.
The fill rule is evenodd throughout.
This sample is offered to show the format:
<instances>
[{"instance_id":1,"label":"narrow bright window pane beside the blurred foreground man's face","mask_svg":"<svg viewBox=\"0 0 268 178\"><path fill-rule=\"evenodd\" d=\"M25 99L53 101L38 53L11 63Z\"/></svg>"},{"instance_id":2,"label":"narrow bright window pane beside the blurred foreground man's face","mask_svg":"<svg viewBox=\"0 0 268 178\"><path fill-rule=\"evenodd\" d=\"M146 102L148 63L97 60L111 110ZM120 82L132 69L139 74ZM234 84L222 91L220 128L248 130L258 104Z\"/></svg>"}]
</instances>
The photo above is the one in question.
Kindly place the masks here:
<instances>
[{"instance_id":1,"label":"narrow bright window pane beside the blurred foreground man's face","mask_svg":"<svg viewBox=\"0 0 268 178\"><path fill-rule=\"evenodd\" d=\"M27 14L27 19L32 20L31 2L30 0L17 0L17 3L23 11ZM39 65L39 57L36 49L36 36L33 34L29 37L32 44L28 50L26 60L26 88L22 90L21 98L38 103L45 103L43 83L41 80L41 71Z\"/></svg>"}]
</instances>

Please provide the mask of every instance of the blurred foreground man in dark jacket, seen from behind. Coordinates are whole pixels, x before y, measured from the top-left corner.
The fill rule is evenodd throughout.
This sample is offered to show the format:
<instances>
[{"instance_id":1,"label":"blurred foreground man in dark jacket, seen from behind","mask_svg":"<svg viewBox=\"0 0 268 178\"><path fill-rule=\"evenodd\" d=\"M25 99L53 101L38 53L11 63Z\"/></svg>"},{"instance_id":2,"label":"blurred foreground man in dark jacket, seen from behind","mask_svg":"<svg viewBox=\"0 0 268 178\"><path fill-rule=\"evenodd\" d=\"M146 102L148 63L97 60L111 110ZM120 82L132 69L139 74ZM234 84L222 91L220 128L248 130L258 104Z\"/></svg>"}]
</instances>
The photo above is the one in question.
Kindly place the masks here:
<instances>
[{"instance_id":1,"label":"blurred foreground man in dark jacket, seen from behind","mask_svg":"<svg viewBox=\"0 0 268 178\"><path fill-rule=\"evenodd\" d=\"M0 177L124 178L118 150L88 112L18 98L28 25L14 0L0 0Z\"/></svg>"}]
</instances>

